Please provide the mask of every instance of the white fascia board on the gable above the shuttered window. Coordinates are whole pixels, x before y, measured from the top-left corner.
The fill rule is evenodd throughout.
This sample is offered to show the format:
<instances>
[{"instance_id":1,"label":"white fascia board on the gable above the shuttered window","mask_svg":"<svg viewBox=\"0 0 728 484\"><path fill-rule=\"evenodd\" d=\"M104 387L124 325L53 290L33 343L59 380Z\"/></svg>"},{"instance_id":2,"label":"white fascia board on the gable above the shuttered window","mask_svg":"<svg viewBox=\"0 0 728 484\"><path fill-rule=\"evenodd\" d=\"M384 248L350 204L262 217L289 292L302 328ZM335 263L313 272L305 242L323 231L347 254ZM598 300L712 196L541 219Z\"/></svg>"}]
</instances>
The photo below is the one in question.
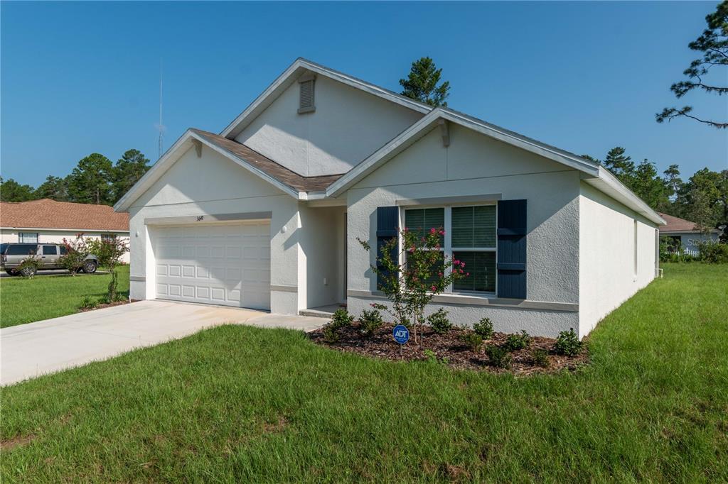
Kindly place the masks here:
<instances>
[{"instance_id":1,"label":"white fascia board on the gable above the shuttered window","mask_svg":"<svg viewBox=\"0 0 728 484\"><path fill-rule=\"evenodd\" d=\"M381 164L384 164L389 161L389 159L396 156L397 153L408 148L408 146L418 140L419 137L427 134L430 129L437 125L437 121L439 119L451 121L467 129L472 129L475 132L485 134L488 137L505 142L509 145L549 158L550 160L577 169L579 172L583 172L591 177L597 177L599 174L598 164L583 160L578 156L558 150L558 148L552 148L513 132L508 132L505 129L488 124L485 121L470 118L470 116L464 116L451 110L435 108L435 110L432 110L430 114L424 116L424 118L419 121L416 121L416 123L412 124L412 126L400 133L399 136L395 137L394 140L388 142L387 145L379 148L379 150L376 150L376 152L374 152L371 156L355 166L351 171L339 178L339 180L336 180L336 182L328 187L326 194L328 196L339 195L355 182L361 180L361 178L381 166Z\"/></svg>"}]
</instances>

